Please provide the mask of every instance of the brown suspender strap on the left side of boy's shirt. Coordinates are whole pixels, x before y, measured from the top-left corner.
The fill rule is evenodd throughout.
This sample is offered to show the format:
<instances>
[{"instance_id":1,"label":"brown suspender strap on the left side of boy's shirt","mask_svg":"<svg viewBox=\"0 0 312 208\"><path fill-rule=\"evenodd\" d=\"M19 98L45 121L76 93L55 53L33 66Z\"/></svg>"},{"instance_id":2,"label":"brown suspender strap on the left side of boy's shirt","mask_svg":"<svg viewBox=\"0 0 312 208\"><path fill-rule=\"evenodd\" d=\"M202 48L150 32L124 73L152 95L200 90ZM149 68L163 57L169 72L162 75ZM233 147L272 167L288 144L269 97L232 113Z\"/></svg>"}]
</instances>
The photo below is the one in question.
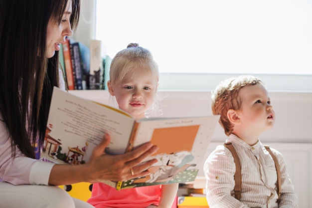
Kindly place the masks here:
<instances>
[{"instance_id":1,"label":"brown suspender strap on the left side of boy's shirt","mask_svg":"<svg viewBox=\"0 0 312 208\"><path fill-rule=\"evenodd\" d=\"M242 193L241 163L239 161L238 155L237 155L232 143L231 142L224 143L224 146L231 151L233 158L234 158L234 163L236 166L236 171L234 174L234 181L235 181L234 194L235 194L235 199L240 200L241 199L241 193Z\"/></svg>"}]
</instances>

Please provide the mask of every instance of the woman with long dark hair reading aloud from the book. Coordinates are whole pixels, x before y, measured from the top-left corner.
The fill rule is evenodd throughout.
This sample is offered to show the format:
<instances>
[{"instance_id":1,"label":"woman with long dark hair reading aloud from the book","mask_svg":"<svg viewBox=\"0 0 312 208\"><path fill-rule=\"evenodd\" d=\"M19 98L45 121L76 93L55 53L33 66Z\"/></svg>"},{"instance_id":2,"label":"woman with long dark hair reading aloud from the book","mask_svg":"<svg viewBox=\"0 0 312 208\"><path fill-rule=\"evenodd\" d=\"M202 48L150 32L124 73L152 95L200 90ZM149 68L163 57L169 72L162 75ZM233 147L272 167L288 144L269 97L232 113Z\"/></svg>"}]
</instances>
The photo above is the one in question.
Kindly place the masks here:
<instances>
[{"instance_id":1,"label":"woman with long dark hair reading aloud from the book","mask_svg":"<svg viewBox=\"0 0 312 208\"><path fill-rule=\"evenodd\" d=\"M76 28L79 9L79 0L0 0L0 208L88 207L57 187L29 184L123 181L147 175L156 162L138 165L156 151L151 143L105 155L108 135L86 164L36 160L33 147L44 141L53 86L65 89L59 45Z\"/></svg>"}]
</instances>

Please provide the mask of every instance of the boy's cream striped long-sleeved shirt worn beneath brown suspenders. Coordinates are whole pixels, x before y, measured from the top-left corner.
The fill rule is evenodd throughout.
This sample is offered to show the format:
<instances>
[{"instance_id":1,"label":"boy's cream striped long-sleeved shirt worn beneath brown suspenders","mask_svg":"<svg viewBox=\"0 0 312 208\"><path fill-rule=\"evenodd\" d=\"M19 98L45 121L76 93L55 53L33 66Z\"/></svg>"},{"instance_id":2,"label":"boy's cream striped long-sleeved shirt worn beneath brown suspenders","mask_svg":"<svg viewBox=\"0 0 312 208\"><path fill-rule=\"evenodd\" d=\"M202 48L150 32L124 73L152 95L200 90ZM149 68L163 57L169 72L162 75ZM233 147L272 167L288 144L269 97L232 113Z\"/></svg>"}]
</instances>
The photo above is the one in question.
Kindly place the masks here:
<instances>
[{"instance_id":1,"label":"boy's cream striped long-sleeved shirt worn beneath brown suspenders","mask_svg":"<svg viewBox=\"0 0 312 208\"><path fill-rule=\"evenodd\" d=\"M298 208L298 198L281 153L271 148L281 167L282 194L278 205L275 164L260 140L250 146L231 134L226 142L232 142L241 163L241 199L238 201L234 198L234 158L226 147L220 145L210 154L204 165L207 202L210 208Z\"/></svg>"}]
</instances>

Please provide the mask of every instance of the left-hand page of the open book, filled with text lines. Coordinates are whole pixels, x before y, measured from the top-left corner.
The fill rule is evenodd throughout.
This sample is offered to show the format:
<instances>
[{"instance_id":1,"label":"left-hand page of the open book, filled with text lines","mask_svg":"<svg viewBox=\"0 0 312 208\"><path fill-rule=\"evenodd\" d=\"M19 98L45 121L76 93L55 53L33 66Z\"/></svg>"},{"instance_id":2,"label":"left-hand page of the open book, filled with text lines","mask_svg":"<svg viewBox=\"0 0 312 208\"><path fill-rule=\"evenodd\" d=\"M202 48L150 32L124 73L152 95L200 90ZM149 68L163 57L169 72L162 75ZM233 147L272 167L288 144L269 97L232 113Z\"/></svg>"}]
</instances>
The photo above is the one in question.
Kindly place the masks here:
<instances>
[{"instance_id":1,"label":"left-hand page of the open book, filled with text lines","mask_svg":"<svg viewBox=\"0 0 312 208\"><path fill-rule=\"evenodd\" d=\"M85 163L105 133L111 136L106 152L125 153L133 125L134 119L118 109L54 87L42 157L56 163Z\"/></svg>"}]
</instances>

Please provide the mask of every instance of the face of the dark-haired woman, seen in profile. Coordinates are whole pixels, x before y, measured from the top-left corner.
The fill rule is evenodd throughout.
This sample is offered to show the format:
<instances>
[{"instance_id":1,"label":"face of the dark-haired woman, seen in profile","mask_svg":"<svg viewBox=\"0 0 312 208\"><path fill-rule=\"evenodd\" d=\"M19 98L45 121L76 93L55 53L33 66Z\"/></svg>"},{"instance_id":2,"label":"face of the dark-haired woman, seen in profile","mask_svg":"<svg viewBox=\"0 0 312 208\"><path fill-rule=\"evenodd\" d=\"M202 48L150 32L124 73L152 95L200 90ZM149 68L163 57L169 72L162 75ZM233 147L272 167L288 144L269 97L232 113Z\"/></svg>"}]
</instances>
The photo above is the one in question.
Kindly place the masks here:
<instances>
[{"instance_id":1,"label":"face of the dark-haired woman, seen in profile","mask_svg":"<svg viewBox=\"0 0 312 208\"><path fill-rule=\"evenodd\" d=\"M73 34L70 26L70 15L72 12L71 0L67 1L66 9L62 21L55 22L53 18L49 20L47 28L47 50L46 56L51 58L56 50L60 49L60 44L65 42L65 36Z\"/></svg>"}]
</instances>

